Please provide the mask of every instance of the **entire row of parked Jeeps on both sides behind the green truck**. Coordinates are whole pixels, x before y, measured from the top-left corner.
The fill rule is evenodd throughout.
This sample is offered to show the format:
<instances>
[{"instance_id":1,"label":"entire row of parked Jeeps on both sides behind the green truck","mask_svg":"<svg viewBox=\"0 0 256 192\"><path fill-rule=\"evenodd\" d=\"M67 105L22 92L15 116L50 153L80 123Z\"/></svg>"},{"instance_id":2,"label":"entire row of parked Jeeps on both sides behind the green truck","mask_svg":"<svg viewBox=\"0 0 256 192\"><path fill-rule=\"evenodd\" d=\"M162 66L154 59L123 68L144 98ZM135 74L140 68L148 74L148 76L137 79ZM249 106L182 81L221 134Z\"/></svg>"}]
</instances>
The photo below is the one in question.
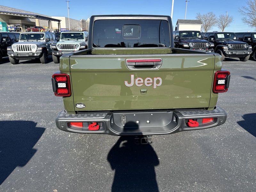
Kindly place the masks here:
<instances>
[{"instance_id":1,"label":"entire row of parked Jeeps on both sides behind the green truck","mask_svg":"<svg viewBox=\"0 0 256 192\"><path fill-rule=\"evenodd\" d=\"M256 60L256 32L206 32L173 31L175 48L216 52L223 61L226 57L236 57L247 61L251 56ZM46 63L52 54L54 63L60 62L63 54L87 49L88 32L0 32L0 62L9 56L12 64L19 60L39 58Z\"/></svg>"}]
</instances>

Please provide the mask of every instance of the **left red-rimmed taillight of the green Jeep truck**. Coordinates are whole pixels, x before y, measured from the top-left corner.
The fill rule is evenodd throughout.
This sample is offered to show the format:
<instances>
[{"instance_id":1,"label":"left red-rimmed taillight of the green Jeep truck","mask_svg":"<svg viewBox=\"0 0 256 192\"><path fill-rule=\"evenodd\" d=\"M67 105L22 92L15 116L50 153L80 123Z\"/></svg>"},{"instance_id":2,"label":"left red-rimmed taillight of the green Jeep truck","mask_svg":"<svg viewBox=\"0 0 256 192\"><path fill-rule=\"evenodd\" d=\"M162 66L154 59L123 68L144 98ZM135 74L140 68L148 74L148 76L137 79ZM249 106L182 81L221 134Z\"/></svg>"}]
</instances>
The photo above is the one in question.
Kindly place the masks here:
<instances>
[{"instance_id":1,"label":"left red-rimmed taillight of the green Jeep truck","mask_svg":"<svg viewBox=\"0 0 256 192\"><path fill-rule=\"evenodd\" d=\"M53 74L52 88L56 96L69 97L71 95L69 75L62 73Z\"/></svg>"}]
</instances>

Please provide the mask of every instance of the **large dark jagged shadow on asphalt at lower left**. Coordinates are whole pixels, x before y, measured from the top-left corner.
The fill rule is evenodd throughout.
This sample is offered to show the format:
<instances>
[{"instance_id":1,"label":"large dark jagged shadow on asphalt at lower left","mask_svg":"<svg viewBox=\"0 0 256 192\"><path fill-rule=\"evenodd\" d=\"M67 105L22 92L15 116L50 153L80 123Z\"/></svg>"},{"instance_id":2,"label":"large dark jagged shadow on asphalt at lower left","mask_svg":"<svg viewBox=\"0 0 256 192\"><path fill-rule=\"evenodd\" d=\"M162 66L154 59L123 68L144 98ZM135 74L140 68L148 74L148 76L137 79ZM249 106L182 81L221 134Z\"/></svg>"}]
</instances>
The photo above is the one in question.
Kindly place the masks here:
<instances>
[{"instance_id":1,"label":"large dark jagged shadow on asphalt at lower left","mask_svg":"<svg viewBox=\"0 0 256 192\"><path fill-rule=\"evenodd\" d=\"M36 142L45 128L33 121L0 121L0 185L17 167L25 166L36 153Z\"/></svg>"}]
</instances>

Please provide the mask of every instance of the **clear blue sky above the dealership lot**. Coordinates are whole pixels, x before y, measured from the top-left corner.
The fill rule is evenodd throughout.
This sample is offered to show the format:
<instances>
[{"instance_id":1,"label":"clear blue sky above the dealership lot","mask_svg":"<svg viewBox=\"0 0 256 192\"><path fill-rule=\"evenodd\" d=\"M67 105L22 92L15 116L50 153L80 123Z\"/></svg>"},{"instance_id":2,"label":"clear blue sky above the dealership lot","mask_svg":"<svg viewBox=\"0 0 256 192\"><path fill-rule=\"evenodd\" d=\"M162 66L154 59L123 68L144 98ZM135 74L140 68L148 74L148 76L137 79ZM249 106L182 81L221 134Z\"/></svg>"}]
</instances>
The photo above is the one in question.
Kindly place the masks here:
<instances>
[{"instance_id":1,"label":"clear blue sky above the dealership lot","mask_svg":"<svg viewBox=\"0 0 256 192\"><path fill-rule=\"evenodd\" d=\"M205 14L212 11L218 16L226 15L228 12L228 15L233 16L234 21L225 31L255 31L255 28L243 23L241 20L243 16L238 12L238 8L245 2L246 0L189 0L186 19L196 19L196 13ZM2 1L1 5L49 16L68 17L65 0L8 0ZM172 0L70 0L69 16L80 20L100 14L171 15L171 7ZM177 19L184 19L185 10L185 0L174 0L173 25L176 24ZM219 29L213 27L212 31L219 31Z\"/></svg>"}]
</instances>

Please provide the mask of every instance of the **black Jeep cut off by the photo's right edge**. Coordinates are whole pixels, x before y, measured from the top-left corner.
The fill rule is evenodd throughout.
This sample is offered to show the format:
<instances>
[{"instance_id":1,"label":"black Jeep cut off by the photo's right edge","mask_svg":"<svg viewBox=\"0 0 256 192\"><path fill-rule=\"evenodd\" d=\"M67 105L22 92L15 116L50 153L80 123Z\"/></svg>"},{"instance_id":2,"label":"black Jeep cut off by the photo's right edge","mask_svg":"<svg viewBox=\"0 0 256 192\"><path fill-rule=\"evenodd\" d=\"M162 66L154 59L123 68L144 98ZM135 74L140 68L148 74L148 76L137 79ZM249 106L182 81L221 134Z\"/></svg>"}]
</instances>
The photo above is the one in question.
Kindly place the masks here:
<instances>
[{"instance_id":1,"label":"black Jeep cut off by the photo's right edge","mask_svg":"<svg viewBox=\"0 0 256 192\"><path fill-rule=\"evenodd\" d=\"M256 61L256 32L235 33L238 41L243 41L252 46L252 59Z\"/></svg>"}]
</instances>

